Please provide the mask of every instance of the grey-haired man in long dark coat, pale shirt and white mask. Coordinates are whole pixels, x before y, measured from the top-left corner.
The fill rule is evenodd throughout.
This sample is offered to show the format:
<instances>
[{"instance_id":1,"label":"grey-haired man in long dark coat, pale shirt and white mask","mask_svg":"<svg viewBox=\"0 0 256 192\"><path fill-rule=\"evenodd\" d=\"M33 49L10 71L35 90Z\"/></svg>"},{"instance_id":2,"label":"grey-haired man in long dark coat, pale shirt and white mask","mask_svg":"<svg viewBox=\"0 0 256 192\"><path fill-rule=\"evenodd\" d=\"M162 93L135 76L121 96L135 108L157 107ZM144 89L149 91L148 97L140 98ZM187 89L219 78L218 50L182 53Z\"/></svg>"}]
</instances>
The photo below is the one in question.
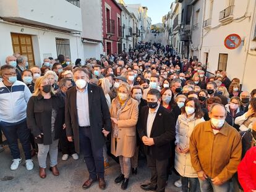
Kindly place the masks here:
<instances>
[{"instance_id":1,"label":"grey-haired man in long dark coat, pale shirt and white mask","mask_svg":"<svg viewBox=\"0 0 256 192\"><path fill-rule=\"evenodd\" d=\"M75 151L83 152L90 177L83 183L89 188L99 178L99 187L106 187L104 179L103 145L111 130L111 119L105 94L100 86L88 82L85 69L74 70L74 87L66 93L67 140L74 137ZM80 146L79 146L80 144Z\"/></svg>"}]
</instances>

